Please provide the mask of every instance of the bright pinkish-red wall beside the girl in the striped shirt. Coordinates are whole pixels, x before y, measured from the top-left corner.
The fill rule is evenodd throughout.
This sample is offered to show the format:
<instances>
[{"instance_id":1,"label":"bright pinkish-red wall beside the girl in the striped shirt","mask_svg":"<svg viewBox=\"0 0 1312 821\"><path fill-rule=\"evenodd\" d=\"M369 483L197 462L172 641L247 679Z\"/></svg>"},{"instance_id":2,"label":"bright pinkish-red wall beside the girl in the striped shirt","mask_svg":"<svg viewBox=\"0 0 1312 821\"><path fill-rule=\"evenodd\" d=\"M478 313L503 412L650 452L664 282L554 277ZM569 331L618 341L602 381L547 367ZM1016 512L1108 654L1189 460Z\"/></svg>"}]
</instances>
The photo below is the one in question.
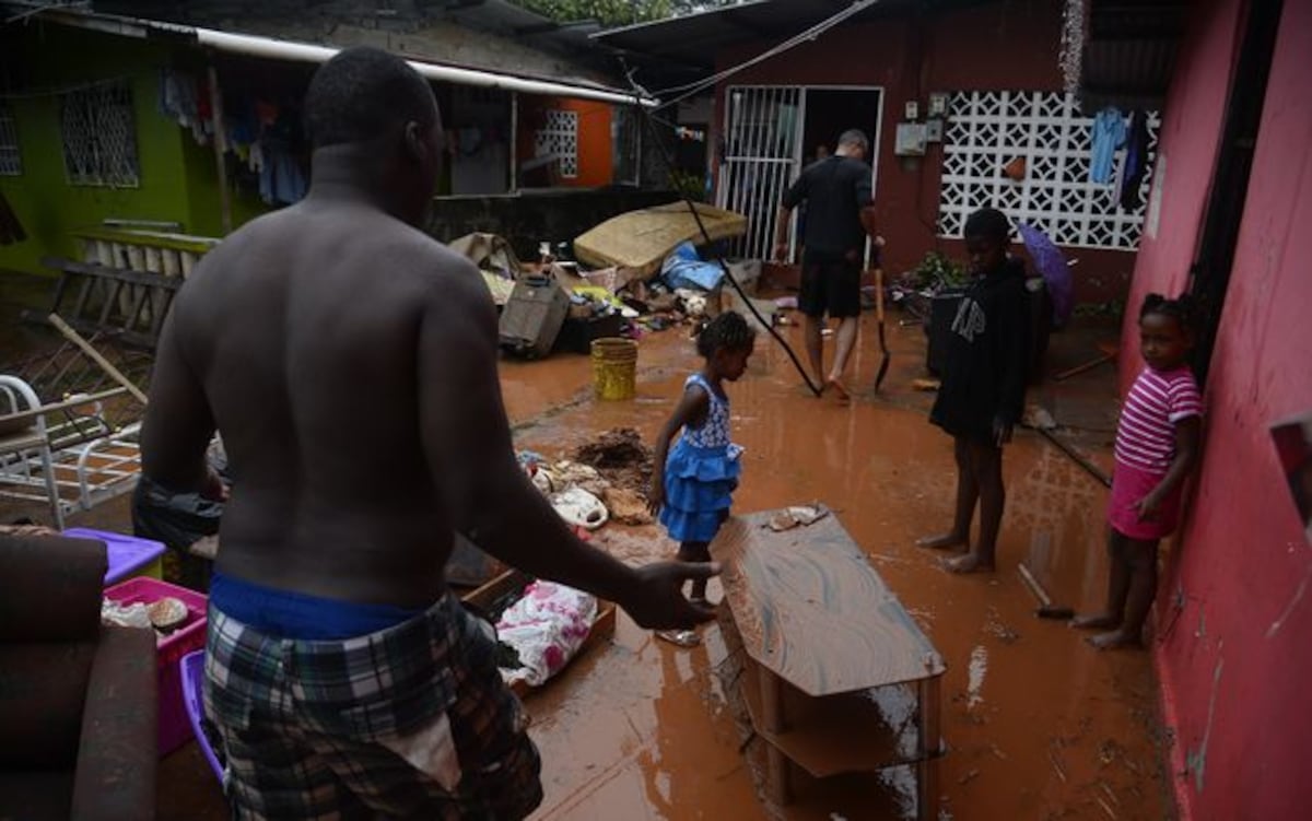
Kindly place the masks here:
<instances>
[{"instance_id":1,"label":"bright pinkish-red wall beside the girl in the striped shirt","mask_svg":"<svg viewBox=\"0 0 1312 821\"><path fill-rule=\"evenodd\" d=\"M1161 228L1134 299L1177 292L1195 253L1235 63L1241 0L1191 12L1162 129ZM1308 817L1312 803L1312 546L1271 422L1312 411L1312 3L1286 0L1239 247L1206 388L1197 494L1157 598L1169 769L1185 818ZM1126 327L1122 382L1138 340Z\"/></svg>"}]
</instances>

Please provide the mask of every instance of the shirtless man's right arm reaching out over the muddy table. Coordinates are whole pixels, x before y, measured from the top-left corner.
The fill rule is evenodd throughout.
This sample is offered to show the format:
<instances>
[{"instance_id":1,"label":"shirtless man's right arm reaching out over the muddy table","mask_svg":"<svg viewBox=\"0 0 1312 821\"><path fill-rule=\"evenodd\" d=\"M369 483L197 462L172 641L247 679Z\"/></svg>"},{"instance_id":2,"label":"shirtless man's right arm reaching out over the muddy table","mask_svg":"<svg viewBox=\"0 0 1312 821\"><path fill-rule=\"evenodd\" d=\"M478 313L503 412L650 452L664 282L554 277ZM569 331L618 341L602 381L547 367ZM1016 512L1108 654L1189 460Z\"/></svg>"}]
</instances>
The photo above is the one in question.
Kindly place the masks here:
<instances>
[{"instance_id":1,"label":"shirtless man's right arm reaching out over the muddy table","mask_svg":"<svg viewBox=\"0 0 1312 821\"><path fill-rule=\"evenodd\" d=\"M496 308L466 261L447 262L426 296L419 338L420 435L433 484L457 531L533 576L618 602L643 627L711 618L682 594L712 565L630 568L580 542L516 460L497 379Z\"/></svg>"}]
</instances>

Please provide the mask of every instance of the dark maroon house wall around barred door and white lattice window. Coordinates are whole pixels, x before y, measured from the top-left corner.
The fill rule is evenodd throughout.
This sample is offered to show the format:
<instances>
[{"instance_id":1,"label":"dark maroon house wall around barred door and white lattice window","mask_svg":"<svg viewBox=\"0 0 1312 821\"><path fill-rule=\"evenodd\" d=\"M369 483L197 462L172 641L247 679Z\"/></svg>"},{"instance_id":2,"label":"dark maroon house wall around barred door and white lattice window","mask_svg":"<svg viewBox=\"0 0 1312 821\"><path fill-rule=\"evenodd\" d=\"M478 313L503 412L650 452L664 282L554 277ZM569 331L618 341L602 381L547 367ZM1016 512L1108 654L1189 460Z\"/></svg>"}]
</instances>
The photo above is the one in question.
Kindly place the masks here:
<instances>
[{"instance_id":1,"label":"dark maroon house wall around barred door and white lattice window","mask_svg":"<svg viewBox=\"0 0 1312 821\"><path fill-rule=\"evenodd\" d=\"M905 16L841 25L813 43L723 83L718 89L712 131L723 127L723 93L729 84L882 87L884 110L875 207L879 231L888 240L884 269L890 273L908 270L925 252L935 248L962 258L962 243L939 240L933 230L938 219L941 144L930 144L916 169L904 169L893 155L903 104L917 100L924 110L930 92L945 90L1059 90L1061 5L1051 0L1008 0L925 13L918 22ZM736 66L768 45L774 43L726 50L719 55L718 68ZM1077 299L1124 298L1134 253L1085 248L1067 253L1080 260L1073 269Z\"/></svg>"}]
</instances>

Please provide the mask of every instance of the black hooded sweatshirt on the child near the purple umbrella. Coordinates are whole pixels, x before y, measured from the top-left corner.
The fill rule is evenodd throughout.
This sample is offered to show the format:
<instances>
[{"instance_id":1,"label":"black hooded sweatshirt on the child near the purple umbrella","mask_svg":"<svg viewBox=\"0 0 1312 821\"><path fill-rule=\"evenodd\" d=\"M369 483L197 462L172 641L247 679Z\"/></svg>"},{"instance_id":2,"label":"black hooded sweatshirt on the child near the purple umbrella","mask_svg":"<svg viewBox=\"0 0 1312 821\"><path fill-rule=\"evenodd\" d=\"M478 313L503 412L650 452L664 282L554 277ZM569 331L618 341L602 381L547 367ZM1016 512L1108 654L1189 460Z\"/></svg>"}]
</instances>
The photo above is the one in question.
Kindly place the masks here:
<instances>
[{"instance_id":1,"label":"black hooded sweatshirt on the child near the purple umbrella","mask_svg":"<svg viewBox=\"0 0 1312 821\"><path fill-rule=\"evenodd\" d=\"M1025 264L1008 258L962 296L947 344L943 382L929 420L954 437L993 441L993 421L1025 412L1030 308Z\"/></svg>"}]
</instances>

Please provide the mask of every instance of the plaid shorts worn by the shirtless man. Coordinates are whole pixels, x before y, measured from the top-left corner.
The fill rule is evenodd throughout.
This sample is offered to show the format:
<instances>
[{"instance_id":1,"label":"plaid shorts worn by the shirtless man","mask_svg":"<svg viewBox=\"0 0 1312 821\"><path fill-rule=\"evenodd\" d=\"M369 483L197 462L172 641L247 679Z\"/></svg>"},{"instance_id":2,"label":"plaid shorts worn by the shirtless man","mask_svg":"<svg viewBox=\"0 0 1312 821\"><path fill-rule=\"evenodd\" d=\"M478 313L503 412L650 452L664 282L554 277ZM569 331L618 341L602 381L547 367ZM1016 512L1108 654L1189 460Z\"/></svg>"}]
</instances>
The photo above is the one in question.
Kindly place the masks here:
<instances>
[{"instance_id":1,"label":"plaid shorts worn by the shirtless man","mask_svg":"<svg viewBox=\"0 0 1312 821\"><path fill-rule=\"evenodd\" d=\"M542 801L491 626L451 594L388 630L276 639L210 607L205 712L235 818L518 820Z\"/></svg>"}]
</instances>

